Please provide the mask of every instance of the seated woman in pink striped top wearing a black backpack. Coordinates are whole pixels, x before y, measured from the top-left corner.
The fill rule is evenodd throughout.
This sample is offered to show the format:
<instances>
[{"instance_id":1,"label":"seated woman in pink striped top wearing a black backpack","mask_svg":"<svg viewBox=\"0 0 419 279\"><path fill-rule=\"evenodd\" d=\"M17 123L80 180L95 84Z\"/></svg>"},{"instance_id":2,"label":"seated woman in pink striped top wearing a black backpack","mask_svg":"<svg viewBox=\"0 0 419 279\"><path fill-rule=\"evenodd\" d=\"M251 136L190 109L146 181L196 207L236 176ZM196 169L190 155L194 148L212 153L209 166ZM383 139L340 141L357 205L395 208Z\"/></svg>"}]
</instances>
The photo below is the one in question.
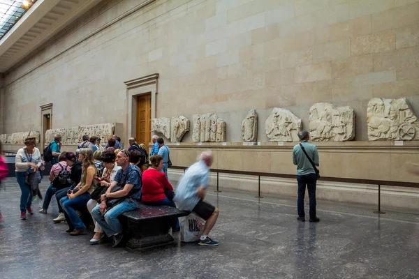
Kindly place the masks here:
<instances>
[{"instance_id":1,"label":"seated woman in pink striped top wearing a black backpack","mask_svg":"<svg viewBox=\"0 0 419 279\"><path fill-rule=\"evenodd\" d=\"M51 181L50 187L48 187L47 192L45 192L45 197L44 197L44 202L43 202L43 206L42 209L39 211L39 213L47 213L48 210L48 206L50 206L50 202L51 202L51 198L53 195L55 195L55 193L58 190L64 189L64 188L68 188L70 187L70 183L66 183L66 181L64 181L64 183L61 183L63 181L60 181L58 179L58 174L63 171L63 173L61 174L62 176L68 176L68 181L71 180L71 166L67 165L67 161L66 161L66 152L61 152L58 156L58 163L54 164L51 167L51 171L50 171L50 176L48 177Z\"/></svg>"}]
</instances>

